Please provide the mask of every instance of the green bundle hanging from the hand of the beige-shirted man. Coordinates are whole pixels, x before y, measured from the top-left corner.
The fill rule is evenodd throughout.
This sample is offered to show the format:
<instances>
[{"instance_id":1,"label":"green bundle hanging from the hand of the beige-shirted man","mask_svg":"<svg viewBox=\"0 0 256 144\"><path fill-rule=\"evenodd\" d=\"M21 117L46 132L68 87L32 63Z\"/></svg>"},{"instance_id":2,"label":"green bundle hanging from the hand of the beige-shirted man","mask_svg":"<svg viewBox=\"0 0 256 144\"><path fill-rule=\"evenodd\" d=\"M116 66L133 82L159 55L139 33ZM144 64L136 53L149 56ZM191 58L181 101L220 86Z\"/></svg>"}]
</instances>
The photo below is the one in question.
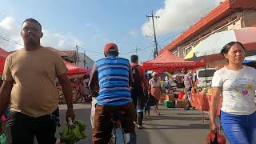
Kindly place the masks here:
<instances>
[{"instance_id":1,"label":"green bundle hanging from the hand of the beige-shirted man","mask_svg":"<svg viewBox=\"0 0 256 144\"><path fill-rule=\"evenodd\" d=\"M85 130L85 122L82 122L81 120L69 122L66 124L62 133L60 133L61 142L65 144L74 144L75 142L86 138Z\"/></svg>"}]
</instances>

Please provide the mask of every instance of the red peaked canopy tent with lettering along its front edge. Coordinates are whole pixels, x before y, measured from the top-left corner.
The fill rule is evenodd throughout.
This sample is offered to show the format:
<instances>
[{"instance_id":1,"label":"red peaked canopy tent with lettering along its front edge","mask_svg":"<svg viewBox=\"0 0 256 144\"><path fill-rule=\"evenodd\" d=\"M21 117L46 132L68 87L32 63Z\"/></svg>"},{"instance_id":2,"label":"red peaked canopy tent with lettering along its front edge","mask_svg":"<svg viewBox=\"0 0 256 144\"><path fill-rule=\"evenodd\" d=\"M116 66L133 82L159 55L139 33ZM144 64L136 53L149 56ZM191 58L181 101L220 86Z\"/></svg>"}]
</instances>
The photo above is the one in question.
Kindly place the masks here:
<instances>
[{"instance_id":1,"label":"red peaked canopy tent with lettering along its front edge","mask_svg":"<svg viewBox=\"0 0 256 144\"><path fill-rule=\"evenodd\" d=\"M142 66L145 70L164 71L164 70L181 70L183 67L194 69L200 66L205 66L205 62L185 61L184 58L172 54L166 50L158 58L151 61L143 62Z\"/></svg>"}]
</instances>

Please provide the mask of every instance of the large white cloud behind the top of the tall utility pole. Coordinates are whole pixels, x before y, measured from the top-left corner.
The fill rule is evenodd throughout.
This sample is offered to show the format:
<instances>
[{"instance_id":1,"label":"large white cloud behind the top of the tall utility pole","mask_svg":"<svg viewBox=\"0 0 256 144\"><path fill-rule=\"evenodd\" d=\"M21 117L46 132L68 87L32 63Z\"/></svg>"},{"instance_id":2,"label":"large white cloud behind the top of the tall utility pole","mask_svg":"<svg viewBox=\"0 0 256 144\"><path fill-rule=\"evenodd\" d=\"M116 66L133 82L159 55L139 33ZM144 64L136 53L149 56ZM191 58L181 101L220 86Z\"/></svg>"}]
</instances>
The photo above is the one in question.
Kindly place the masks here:
<instances>
[{"instance_id":1,"label":"large white cloud behind the top of the tall utility pole","mask_svg":"<svg viewBox=\"0 0 256 144\"><path fill-rule=\"evenodd\" d=\"M158 35L174 30L184 30L213 10L223 0L165 0L165 6L155 12L160 16L155 22ZM153 35L152 20L142 25L142 34Z\"/></svg>"}]
</instances>

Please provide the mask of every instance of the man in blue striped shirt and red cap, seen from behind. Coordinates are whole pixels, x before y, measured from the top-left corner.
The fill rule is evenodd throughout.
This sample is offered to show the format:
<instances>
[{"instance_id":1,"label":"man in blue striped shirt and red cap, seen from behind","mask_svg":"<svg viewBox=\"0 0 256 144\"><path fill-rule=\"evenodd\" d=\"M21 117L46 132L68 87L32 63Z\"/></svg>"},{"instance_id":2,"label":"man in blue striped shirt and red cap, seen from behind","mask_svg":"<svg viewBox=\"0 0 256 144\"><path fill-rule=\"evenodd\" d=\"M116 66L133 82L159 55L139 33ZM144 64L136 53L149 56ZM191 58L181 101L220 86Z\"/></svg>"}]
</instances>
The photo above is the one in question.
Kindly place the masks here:
<instances>
[{"instance_id":1,"label":"man in blue striped shirt and red cap, seen from behind","mask_svg":"<svg viewBox=\"0 0 256 144\"><path fill-rule=\"evenodd\" d=\"M90 92L97 95L94 114L94 144L107 144L110 141L113 123L111 114L124 112L122 128L130 133L130 143L136 143L134 126L135 109L130 96L132 74L130 62L126 58L118 58L118 46L114 43L106 44L105 58L94 63L90 75ZM97 86L99 92L97 93Z\"/></svg>"}]
</instances>

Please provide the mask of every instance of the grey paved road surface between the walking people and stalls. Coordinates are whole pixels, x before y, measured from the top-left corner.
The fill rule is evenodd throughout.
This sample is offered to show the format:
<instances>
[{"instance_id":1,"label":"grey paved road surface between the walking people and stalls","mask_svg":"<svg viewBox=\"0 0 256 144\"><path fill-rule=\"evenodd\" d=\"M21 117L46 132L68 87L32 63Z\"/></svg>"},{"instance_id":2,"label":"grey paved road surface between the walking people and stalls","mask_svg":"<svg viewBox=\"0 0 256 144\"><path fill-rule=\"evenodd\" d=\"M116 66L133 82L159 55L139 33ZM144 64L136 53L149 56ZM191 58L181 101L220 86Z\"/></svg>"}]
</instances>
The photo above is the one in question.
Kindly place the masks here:
<instances>
[{"instance_id":1,"label":"grey paved road surface between the walking people and stalls","mask_svg":"<svg viewBox=\"0 0 256 144\"><path fill-rule=\"evenodd\" d=\"M90 104L74 105L77 118L86 122L87 138L81 142L91 143ZM61 123L64 126L66 106L61 105ZM204 144L209 132L209 118L202 123L202 112L199 110L167 109L160 106L162 115L154 114L144 121L143 130L137 130L138 144ZM62 130L61 129L58 129ZM57 132L58 136L58 132Z\"/></svg>"}]
</instances>

